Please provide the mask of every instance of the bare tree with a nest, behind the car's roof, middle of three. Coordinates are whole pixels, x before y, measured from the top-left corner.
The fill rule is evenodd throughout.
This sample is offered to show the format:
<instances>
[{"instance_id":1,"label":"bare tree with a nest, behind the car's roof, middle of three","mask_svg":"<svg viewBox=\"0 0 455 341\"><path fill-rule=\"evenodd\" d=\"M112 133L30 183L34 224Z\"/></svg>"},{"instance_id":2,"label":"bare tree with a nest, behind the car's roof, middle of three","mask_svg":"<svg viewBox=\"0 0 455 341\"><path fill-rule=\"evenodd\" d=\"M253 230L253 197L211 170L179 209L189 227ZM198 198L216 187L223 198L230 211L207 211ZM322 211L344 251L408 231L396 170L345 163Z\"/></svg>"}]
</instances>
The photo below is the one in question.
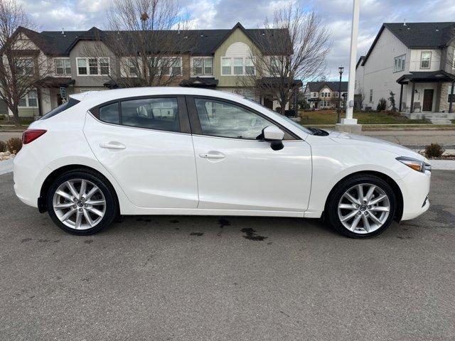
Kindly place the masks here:
<instances>
[{"instance_id":1,"label":"bare tree with a nest, behind the car's roof, middle of three","mask_svg":"<svg viewBox=\"0 0 455 341\"><path fill-rule=\"evenodd\" d=\"M107 30L97 31L87 45L87 57L116 56L109 74L119 87L174 85L189 76L189 53L194 34L176 0L113 0L107 11ZM188 73L188 75L187 75Z\"/></svg>"}]
</instances>

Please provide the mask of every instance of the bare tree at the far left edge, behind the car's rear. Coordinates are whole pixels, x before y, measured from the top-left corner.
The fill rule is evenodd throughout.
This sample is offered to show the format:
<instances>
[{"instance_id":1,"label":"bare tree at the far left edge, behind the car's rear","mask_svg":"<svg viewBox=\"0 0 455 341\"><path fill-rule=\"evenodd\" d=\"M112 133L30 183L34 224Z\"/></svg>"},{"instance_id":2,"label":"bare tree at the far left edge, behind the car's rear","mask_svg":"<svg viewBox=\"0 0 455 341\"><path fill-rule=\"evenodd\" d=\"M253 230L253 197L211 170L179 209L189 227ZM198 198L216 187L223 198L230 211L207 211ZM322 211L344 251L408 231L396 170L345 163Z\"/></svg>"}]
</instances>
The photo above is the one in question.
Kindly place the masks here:
<instances>
[{"instance_id":1,"label":"bare tree at the far left edge, behind the car's rear","mask_svg":"<svg viewBox=\"0 0 455 341\"><path fill-rule=\"evenodd\" d=\"M27 27L27 28L26 28ZM48 59L28 39L36 34L20 2L0 0L0 99L13 112L20 126L18 106L50 70ZM38 99L33 99L38 104Z\"/></svg>"}]
</instances>

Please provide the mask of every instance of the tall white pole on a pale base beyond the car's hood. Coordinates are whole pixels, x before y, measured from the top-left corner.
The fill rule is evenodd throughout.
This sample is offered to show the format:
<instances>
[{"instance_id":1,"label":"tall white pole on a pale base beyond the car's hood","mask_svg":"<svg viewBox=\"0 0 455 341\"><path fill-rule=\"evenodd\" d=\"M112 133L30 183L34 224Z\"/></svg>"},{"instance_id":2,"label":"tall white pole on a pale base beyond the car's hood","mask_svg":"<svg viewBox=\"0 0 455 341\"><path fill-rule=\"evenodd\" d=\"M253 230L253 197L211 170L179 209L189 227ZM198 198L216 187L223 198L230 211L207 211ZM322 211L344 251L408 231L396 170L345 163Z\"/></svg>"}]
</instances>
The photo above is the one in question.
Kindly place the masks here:
<instances>
[{"instance_id":1,"label":"tall white pole on a pale base beyond the car's hood","mask_svg":"<svg viewBox=\"0 0 455 341\"><path fill-rule=\"evenodd\" d=\"M348 99L346 100L346 119L341 119L341 124L357 124L353 119L354 87L355 87L355 59L357 58L358 22L360 19L360 0L353 0L353 26L350 31L350 63Z\"/></svg>"}]
</instances>

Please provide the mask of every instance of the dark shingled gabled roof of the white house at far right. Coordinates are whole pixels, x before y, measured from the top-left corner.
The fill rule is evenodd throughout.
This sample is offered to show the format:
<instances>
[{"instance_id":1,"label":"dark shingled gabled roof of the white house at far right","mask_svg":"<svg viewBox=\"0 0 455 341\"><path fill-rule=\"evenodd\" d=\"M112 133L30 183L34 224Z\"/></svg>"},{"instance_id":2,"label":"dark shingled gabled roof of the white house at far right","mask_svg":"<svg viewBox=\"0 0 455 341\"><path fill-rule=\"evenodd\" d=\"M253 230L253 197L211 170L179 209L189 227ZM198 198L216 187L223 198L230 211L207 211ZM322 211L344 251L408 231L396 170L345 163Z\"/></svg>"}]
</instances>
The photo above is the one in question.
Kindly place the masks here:
<instances>
[{"instance_id":1,"label":"dark shingled gabled roof of the white house at far right","mask_svg":"<svg viewBox=\"0 0 455 341\"><path fill-rule=\"evenodd\" d=\"M365 65L385 28L408 48L441 48L455 38L454 21L444 23L383 23L365 55L362 66Z\"/></svg>"}]
</instances>

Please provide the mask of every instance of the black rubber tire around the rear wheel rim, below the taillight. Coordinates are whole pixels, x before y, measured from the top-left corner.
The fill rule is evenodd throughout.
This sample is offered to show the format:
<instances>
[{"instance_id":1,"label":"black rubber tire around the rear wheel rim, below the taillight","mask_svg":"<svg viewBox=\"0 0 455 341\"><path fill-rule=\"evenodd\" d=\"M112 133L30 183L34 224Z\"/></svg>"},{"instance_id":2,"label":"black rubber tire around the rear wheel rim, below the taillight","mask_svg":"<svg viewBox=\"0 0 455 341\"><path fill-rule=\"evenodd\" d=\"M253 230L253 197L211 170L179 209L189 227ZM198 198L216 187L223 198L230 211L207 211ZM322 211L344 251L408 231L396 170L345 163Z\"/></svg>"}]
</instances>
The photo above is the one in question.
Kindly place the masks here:
<instances>
[{"instance_id":1,"label":"black rubber tire around the rear wheel rim, below the taillight","mask_svg":"<svg viewBox=\"0 0 455 341\"><path fill-rule=\"evenodd\" d=\"M83 179L90 181L92 184L95 184L100 189L102 195L104 195L105 197L106 206L104 216L99 222L97 222L95 226L91 228L74 229L68 227L67 225L63 224L63 222L60 221L53 208L53 195L55 191L59 188L60 185L62 185L68 180L73 179ZM102 229L105 229L110 224L112 224L112 222L114 222L114 220L119 215L117 195L115 195L114 188L112 188L112 185L109 183L109 181L104 176L96 173L95 171L90 171L83 168L76 169L74 171L68 171L60 175L58 178L56 178L48 188L48 193L46 195L46 205L48 207L50 219L52 219L53 222L58 227L60 227L60 229L63 229L63 231L68 232L70 234L76 234L79 236L87 236L90 234L100 232Z\"/></svg>"}]
</instances>

